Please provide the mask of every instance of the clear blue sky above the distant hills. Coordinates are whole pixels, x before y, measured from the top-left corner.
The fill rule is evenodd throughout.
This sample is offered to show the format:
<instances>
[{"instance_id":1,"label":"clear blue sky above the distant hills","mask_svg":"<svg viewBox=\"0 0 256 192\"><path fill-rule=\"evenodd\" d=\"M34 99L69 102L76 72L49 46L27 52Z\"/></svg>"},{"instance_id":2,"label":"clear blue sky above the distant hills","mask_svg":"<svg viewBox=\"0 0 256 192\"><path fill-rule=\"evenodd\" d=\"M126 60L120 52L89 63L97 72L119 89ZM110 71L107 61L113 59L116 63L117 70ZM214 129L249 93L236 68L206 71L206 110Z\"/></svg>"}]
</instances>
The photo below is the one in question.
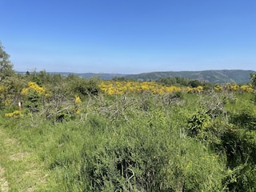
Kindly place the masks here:
<instances>
[{"instance_id":1,"label":"clear blue sky above the distant hills","mask_svg":"<svg viewBox=\"0 0 256 192\"><path fill-rule=\"evenodd\" d=\"M256 70L255 0L0 0L14 70Z\"/></svg>"}]
</instances>

